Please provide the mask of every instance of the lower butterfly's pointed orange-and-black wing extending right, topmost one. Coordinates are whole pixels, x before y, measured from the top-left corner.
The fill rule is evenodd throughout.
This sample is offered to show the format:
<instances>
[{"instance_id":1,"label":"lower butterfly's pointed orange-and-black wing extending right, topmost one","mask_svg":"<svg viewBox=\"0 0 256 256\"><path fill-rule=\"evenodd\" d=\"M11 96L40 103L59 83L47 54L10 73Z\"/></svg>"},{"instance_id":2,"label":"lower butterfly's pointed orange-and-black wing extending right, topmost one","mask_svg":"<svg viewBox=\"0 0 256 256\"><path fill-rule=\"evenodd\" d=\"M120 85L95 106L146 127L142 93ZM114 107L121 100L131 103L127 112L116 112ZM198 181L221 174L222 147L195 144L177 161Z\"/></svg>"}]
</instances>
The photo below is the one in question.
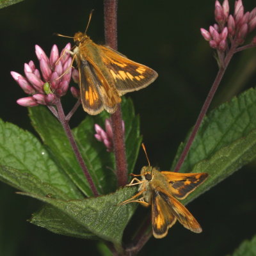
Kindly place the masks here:
<instances>
[{"instance_id":1,"label":"lower butterfly's pointed orange-and-black wing extending right, topmost one","mask_svg":"<svg viewBox=\"0 0 256 256\"><path fill-rule=\"evenodd\" d=\"M208 177L208 173L178 173L178 172L161 172L168 183L172 195L179 199L184 199L192 191L202 184Z\"/></svg>"}]
</instances>

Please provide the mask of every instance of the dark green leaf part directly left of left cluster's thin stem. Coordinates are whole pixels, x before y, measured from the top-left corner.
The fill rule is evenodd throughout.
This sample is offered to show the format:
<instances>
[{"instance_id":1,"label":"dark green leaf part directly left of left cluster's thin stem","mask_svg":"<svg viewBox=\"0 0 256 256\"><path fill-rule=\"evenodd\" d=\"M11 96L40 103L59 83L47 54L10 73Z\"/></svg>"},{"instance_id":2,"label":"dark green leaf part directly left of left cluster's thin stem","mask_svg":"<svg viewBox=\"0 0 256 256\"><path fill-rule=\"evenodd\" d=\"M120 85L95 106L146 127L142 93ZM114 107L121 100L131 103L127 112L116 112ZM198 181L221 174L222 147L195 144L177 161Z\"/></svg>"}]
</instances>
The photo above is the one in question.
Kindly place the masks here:
<instances>
[{"instance_id":1,"label":"dark green leaf part directly left of left cluster's thin stem","mask_svg":"<svg viewBox=\"0 0 256 256\"><path fill-rule=\"evenodd\" d=\"M60 122L43 106L29 108L29 116L45 145L52 154L52 159L68 174L70 179L81 189L84 195L92 195L92 191L79 166L76 156Z\"/></svg>"}]
</instances>

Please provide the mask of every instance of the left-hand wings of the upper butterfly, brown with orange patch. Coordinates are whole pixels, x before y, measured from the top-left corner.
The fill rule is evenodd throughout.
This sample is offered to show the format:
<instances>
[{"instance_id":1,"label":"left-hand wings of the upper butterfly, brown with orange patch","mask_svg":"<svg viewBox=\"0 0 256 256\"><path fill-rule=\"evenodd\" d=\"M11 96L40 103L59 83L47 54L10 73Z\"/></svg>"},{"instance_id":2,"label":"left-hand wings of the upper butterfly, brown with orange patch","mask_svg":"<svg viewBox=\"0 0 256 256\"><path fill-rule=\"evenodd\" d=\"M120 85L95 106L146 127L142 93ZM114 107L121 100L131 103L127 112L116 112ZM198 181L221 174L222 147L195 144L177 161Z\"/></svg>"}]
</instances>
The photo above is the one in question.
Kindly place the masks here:
<instances>
[{"instance_id":1,"label":"left-hand wings of the upper butterfly, brown with orange patch","mask_svg":"<svg viewBox=\"0 0 256 256\"><path fill-rule=\"evenodd\" d=\"M90 58L81 60L76 56L79 70L81 101L84 111L97 115L103 109L114 113L117 104L121 102L119 95L111 90L108 81Z\"/></svg>"}]
</instances>

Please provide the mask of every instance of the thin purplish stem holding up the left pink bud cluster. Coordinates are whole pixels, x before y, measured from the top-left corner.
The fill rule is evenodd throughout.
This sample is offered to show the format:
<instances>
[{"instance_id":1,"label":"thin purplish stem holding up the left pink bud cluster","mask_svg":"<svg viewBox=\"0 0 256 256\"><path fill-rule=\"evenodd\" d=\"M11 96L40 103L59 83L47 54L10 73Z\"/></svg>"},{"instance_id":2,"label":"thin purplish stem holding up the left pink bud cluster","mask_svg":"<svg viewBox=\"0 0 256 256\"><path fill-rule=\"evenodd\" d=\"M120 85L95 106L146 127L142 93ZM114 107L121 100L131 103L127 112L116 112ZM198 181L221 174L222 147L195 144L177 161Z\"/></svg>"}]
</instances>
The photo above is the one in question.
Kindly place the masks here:
<instances>
[{"instance_id":1,"label":"thin purplish stem holding up the left pink bud cluster","mask_svg":"<svg viewBox=\"0 0 256 256\"><path fill-rule=\"evenodd\" d=\"M61 122L61 125L63 126L63 129L65 130L65 132L67 134L68 140L71 144L71 147L73 148L73 151L74 151L74 154L77 158L77 161L78 161L79 165L81 166L86 179L88 180L88 183L89 183L90 188L92 189L93 195L97 196L97 195L99 195L99 193L97 191L97 188L95 187L95 184L93 183L92 177L91 177L90 173L88 172L86 164L84 163L83 158L80 154L80 151L77 147L76 141L75 141L74 136L71 132L68 121L66 120L66 116L65 116L65 113L63 111L60 99L57 100L56 107L57 107L57 110L58 110L59 120Z\"/></svg>"}]
</instances>

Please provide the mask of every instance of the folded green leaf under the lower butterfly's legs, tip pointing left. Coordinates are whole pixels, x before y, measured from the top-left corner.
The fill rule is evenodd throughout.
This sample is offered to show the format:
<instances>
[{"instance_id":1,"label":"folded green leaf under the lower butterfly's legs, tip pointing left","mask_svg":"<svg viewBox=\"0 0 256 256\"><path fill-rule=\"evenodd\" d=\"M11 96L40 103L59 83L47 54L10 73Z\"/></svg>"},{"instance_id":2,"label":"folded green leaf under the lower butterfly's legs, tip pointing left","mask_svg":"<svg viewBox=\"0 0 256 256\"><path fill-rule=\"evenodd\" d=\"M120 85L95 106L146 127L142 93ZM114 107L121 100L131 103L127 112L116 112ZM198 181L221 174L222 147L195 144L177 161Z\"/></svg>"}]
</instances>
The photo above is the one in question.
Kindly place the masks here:
<instances>
[{"instance_id":1,"label":"folded green leaf under the lower butterfly's legs, tip pointing left","mask_svg":"<svg viewBox=\"0 0 256 256\"><path fill-rule=\"evenodd\" d=\"M85 230L92 232L94 236L112 242L118 250L121 250L122 234L136 205L118 204L134 195L136 189L134 187L120 188L115 193L84 200L59 200L29 193L24 194L51 204L82 225Z\"/></svg>"}]
</instances>

